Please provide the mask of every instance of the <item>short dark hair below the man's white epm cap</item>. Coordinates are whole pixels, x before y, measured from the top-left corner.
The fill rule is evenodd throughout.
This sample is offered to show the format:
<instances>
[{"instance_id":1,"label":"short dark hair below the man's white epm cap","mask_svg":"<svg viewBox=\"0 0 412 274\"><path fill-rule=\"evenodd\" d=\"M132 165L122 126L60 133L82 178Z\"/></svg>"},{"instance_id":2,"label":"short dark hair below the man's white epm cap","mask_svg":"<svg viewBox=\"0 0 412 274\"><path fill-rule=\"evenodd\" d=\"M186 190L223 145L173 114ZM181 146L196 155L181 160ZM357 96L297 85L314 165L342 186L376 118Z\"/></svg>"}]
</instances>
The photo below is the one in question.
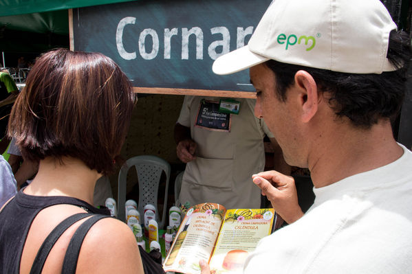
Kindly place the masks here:
<instances>
[{"instance_id":1,"label":"short dark hair below the man's white epm cap","mask_svg":"<svg viewBox=\"0 0 412 274\"><path fill-rule=\"evenodd\" d=\"M312 75L318 91L328 93L329 103L338 117L348 117L354 126L370 128L378 119L394 119L405 93L407 68L411 59L411 38L406 32L393 30L389 36L389 61L398 68L382 74L356 74L315 69L268 60L275 75L276 92L280 100L287 98L287 89L294 84L299 70Z\"/></svg>"}]
</instances>

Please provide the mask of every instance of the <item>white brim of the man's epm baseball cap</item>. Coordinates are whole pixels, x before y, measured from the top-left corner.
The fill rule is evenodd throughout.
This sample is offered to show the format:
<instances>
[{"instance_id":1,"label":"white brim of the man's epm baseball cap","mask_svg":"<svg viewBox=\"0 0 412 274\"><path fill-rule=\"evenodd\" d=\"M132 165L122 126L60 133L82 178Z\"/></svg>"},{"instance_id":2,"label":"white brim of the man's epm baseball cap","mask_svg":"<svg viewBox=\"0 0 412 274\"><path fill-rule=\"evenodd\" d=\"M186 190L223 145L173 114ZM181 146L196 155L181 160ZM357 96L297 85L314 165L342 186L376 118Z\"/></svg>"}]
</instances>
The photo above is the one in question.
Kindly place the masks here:
<instances>
[{"instance_id":1,"label":"white brim of the man's epm baseball cap","mask_svg":"<svg viewBox=\"0 0 412 274\"><path fill-rule=\"evenodd\" d=\"M213 62L212 70L216 74L225 75L248 69L267 60L269 58L250 52L249 47L246 45L217 58Z\"/></svg>"}]
</instances>

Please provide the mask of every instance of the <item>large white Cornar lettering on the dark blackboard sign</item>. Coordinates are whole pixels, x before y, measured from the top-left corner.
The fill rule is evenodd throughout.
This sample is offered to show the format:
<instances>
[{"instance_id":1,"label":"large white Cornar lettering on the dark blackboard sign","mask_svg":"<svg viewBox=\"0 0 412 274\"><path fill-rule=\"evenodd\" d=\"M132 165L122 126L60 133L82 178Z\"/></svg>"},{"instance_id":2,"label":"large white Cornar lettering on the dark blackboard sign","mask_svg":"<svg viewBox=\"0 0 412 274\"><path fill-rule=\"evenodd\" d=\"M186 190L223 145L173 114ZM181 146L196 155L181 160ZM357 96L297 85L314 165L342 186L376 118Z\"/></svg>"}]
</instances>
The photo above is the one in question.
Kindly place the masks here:
<instances>
[{"instance_id":1,"label":"large white Cornar lettering on the dark blackboard sign","mask_svg":"<svg viewBox=\"0 0 412 274\"><path fill-rule=\"evenodd\" d=\"M123 33L124 28L127 25L135 25L136 18L127 16L121 19L118 23L118 27L116 30L116 47L118 49L118 53L121 58L124 60L133 60L137 58L136 51L127 52L124 48L123 44ZM251 35L253 32L253 27L237 27L237 39L236 39L236 46L237 48L243 47L245 45L246 36ZM173 27L172 29L165 28L164 29L164 59L171 59L171 50L172 50L172 43L171 39L172 36L178 36L179 29L177 27ZM208 46L208 56L216 60L217 57L230 52L230 32L227 27L212 27L210 28L210 34L221 34L221 40L216 40L210 43ZM188 30L187 27L182 27L182 60L189 59L189 38L191 36L195 36L196 41L196 59L203 60L203 48L204 48L204 32L200 27L192 27ZM148 52L147 48L147 39L152 40L152 48L151 52ZM221 46L221 52L217 52L217 47ZM140 56L145 60L152 60L158 56L159 49L160 49L160 41L158 32L151 28L146 28L140 32L139 41L138 41L138 49ZM129 49L130 50L130 49ZM150 50L150 49L149 49Z\"/></svg>"}]
</instances>

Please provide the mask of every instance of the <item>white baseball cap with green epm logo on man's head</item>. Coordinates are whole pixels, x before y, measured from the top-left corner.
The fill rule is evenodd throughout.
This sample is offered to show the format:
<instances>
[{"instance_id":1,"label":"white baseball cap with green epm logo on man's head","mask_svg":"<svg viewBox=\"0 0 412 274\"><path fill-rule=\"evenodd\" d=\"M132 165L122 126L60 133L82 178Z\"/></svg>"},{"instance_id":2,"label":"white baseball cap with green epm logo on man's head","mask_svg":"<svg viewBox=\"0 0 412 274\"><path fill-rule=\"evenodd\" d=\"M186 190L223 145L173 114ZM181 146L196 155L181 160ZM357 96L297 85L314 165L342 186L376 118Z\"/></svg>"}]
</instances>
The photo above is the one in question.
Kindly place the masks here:
<instances>
[{"instance_id":1,"label":"white baseball cap with green epm logo on man's head","mask_svg":"<svg viewBox=\"0 0 412 274\"><path fill-rule=\"evenodd\" d=\"M230 74L273 59L346 73L394 71L387 51L396 28L379 0L275 0L248 45L212 69Z\"/></svg>"}]
</instances>

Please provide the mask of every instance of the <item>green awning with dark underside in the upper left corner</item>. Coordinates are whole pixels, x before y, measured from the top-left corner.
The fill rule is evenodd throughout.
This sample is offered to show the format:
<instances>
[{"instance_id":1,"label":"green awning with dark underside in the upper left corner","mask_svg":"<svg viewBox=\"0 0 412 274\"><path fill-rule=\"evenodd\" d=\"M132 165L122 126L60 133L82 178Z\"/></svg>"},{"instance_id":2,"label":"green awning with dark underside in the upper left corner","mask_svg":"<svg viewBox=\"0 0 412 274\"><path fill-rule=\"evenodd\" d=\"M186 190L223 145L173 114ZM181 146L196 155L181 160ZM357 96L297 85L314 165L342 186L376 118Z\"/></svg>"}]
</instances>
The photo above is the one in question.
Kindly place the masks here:
<instances>
[{"instance_id":1,"label":"green awning with dark underside in the upper left corner","mask_svg":"<svg viewBox=\"0 0 412 274\"><path fill-rule=\"evenodd\" d=\"M68 9L131 0L0 0L0 52L69 46Z\"/></svg>"}]
</instances>

